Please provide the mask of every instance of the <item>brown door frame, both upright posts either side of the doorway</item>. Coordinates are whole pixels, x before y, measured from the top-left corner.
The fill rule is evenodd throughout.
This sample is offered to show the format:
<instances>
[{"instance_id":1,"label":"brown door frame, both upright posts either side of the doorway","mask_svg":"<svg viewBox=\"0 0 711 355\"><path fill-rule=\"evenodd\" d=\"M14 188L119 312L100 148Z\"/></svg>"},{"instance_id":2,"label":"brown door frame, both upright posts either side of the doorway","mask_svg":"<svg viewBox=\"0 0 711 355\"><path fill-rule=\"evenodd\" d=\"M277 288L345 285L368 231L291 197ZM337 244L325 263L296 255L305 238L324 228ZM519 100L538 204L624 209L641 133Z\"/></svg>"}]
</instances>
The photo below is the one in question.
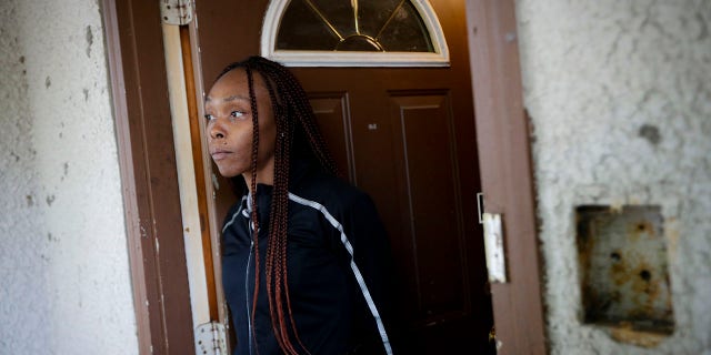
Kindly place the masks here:
<instances>
[{"instance_id":1,"label":"brown door frame, both upright posts either side of the doorway","mask_svg":"<svg viewBox=\"0 0 711 355\"><path fill-rule=\"evenodd\" d=\"M140 354L194 348L159 4L101 8ZM500 354L545 354L514 0L467 0L467 18L484 209L504 216L510 282L492 285Z\"/></svg>"}]
</instances>

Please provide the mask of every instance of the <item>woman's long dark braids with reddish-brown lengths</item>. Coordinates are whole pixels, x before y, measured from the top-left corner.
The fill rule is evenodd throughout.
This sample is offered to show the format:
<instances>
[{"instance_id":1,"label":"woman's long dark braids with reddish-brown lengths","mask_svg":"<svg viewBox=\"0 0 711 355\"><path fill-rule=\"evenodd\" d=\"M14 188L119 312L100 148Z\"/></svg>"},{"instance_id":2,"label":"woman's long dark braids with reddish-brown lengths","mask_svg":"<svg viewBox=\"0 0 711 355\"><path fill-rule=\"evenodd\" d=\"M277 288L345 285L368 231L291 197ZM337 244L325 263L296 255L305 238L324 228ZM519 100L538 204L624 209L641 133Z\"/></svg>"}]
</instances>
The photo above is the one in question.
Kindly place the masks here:
<instances>
[{"instance_id":1,"label":"woman's long dark braids with reddish-brown lengths","mask_svg":"<svg viewBox=\"0 0 711 355\"><path fill-rule=\"evenodd\" d=\"M262 77L277 125L274 146L274 179L272 190L271 212L269 215L269 237L266 255L267 296L272 331L279 347L287 354L299 354L298 348L309 353L301 343L296 328L289 297L287 270L287 239L288 239L288 205L289 205L289 172L292 158L310 160L318 163L324 171L337 174L337 168L323 136L321 135L311 103L297 78L283 65L262 57L250 57L243 61L227 65L216 79L216 82L228 72L241 69L247 73L249 99L252 111L252 151L251 151L251 186L257 191L257 160L259 146L259 112L254 94L254 73ZM237 190L246 192L244 180L240 176L231 179ZM253 223L253 242L256 261L256 280L252 310L250 312L252 326L260 285L260 250L259 250L259 217L257 199L251 199L251 220ZM284 310L284 305L287 310ZM293 335L290 336L290 334ZM296 343L294 343L296 341ZM297 346L298 344L298 346Z\"/></svg>"}]
</instances>

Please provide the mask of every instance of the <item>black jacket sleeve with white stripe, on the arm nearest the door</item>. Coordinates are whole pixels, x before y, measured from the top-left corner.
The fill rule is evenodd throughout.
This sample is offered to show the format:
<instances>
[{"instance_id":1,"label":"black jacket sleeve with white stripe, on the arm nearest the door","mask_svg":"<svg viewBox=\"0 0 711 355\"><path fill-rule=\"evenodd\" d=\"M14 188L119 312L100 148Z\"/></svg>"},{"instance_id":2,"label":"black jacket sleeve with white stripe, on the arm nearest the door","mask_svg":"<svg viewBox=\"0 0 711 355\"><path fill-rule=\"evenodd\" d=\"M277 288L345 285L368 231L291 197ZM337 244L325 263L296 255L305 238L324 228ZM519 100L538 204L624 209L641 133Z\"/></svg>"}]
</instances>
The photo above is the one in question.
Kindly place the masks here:
<instances>
[{"instance_id":1,"label":"black jacket sleeve with white stripe, on the arm nearest the door","mask_svg":"<svg viewBox=\"0 0 711 355\"><path fill-rule=\"evenodd\" d=\"M397 354L400 322L394 308L394 263L390 241L370 196L358 194L344 209L343 234L351 255L357 300L356 333L359 344L352 354ZM349 253L350 254L350 253ZM360 277L358 277L360 275ZM391 352L387 349L390 348Z\"/></svg>"}]
</instances>

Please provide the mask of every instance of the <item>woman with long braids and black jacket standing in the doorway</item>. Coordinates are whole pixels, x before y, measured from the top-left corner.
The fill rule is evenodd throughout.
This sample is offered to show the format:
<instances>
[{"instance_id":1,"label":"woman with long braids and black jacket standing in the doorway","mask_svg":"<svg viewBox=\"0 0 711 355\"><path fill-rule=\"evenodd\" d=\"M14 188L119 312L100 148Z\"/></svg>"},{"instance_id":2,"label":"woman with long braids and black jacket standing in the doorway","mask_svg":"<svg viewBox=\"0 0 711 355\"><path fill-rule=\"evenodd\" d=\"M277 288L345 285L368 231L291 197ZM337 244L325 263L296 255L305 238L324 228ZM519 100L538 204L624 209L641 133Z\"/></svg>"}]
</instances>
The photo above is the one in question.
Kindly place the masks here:
<instances>
[{"instance_id":1,"label":"woman with long braids and black jacket standing in the doorway","mask_svg":"<svg viewBox=\"0 0 711 355\"><path fill-rule=\"evenodd\" d=\"M210 154L241 199L222 230L234 354L391 354L391 264L370 197L336 178L282 65L228 65L206 98Z\"/></svg>"}]
</instances>

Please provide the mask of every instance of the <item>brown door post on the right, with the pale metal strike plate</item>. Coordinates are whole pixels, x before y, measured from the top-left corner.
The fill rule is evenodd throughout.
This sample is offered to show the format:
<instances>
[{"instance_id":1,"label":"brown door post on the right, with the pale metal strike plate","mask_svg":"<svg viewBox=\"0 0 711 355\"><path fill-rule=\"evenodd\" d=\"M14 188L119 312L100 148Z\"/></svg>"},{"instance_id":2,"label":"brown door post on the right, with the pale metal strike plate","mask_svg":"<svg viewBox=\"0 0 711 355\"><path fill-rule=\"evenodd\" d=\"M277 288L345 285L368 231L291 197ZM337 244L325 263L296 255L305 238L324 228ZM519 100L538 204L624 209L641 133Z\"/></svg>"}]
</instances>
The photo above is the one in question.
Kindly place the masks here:
<instances>
[{"instance_id":1,"label":"brown door post on the right, with the pale metal strike plate","mask_svg":"<svg viewBox=\"0 0 711 355\"><path fill-rule=\"evenodd\" d=\"M514 0L467 0L484 211L503 216L507 283L491 285L499 354L547 354L529 118Z\"/></svg>"}]
</instances>

